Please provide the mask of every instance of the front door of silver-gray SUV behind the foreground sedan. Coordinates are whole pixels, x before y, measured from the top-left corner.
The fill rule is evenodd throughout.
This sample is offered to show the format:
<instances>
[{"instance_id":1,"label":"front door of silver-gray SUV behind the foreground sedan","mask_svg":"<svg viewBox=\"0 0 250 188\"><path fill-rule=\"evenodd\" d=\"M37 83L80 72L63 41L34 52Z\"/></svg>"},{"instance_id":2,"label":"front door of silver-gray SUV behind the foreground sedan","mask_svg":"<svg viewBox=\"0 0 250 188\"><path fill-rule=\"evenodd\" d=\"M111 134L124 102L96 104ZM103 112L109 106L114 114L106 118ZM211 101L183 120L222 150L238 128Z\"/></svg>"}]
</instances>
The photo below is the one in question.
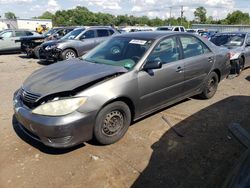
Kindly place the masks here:
<instances>
[{"instance_id":1,"label":"front door of silver-gray SUV behind the foreground sedan","mask_svg":"<svg viewBox=\"0 0 250 188\"><path fill-rule=\"evenodd\" d=\"M87 30L80 36L79 39L82 42L79 47L81 56L96 46L96 31L94 29Z\"/></svg>"}]
</instances>

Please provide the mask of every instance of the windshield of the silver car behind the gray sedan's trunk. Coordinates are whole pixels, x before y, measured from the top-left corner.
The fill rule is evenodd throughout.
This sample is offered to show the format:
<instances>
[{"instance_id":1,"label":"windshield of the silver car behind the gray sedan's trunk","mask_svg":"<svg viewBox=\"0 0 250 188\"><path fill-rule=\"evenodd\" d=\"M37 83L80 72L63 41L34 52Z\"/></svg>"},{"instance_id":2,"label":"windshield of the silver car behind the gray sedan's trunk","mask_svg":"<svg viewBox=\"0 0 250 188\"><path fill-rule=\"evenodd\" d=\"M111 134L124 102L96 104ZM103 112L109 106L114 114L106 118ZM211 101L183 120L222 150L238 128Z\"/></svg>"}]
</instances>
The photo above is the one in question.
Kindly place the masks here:
<instances>
[{"instance_id":1,"label":"windshield of the silver car behind the gray sedan's trunk","mask_svg":"<svg viewBox=\"0 0 250 188\"><path fill-rule=\"evenodd\" d=\"M245 34L220 34L211 38L217 46L242 46L245 40Z\"/></svg>"}]
</instances>

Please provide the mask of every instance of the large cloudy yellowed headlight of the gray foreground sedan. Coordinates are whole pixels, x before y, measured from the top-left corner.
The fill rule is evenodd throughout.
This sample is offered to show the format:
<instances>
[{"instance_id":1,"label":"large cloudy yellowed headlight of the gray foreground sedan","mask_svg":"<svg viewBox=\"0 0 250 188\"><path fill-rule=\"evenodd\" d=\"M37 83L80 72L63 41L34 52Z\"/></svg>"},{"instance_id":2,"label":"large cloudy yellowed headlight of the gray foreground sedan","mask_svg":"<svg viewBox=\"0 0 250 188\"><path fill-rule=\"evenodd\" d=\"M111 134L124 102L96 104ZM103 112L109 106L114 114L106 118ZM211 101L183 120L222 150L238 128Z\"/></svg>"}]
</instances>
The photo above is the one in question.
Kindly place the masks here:
<instances>
[{"instance_id":1,"label":"large cloudy yellowed headlight of the gray foreground sedan","mask_svg":"<svg viewBox=\"0 0 250 188\"><path fill-rule=\"evenodd\" d=\"M32 110L32 113L45 116L63 116L77 110L86 100L87 98L85 97L77 97L51 101L38 106Z\"/></svg>"}]
</instances>

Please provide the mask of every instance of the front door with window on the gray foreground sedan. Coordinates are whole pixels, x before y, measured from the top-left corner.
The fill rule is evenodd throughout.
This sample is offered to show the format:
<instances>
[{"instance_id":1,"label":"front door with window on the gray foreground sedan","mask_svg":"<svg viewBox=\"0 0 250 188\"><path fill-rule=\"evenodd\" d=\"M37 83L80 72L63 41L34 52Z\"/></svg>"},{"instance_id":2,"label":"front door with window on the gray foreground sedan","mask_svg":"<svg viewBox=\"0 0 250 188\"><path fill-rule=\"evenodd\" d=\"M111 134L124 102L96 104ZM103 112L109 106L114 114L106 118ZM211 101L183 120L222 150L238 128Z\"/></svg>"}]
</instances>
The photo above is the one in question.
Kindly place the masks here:
<instances>
[{"instance_id":1,"label":"front door with window on the gray foreground sedan","mask_svg":"<svg viewBox=\"0 0 250 188\"><path fill-rule=\"evenodd\" d=\"M160 61L162 68L138 73L139 110L142 114L182 95L184 63L180 60L176 37L165 38L156 45L146 63L153 61Z\"/></svg>"}]
</instances>

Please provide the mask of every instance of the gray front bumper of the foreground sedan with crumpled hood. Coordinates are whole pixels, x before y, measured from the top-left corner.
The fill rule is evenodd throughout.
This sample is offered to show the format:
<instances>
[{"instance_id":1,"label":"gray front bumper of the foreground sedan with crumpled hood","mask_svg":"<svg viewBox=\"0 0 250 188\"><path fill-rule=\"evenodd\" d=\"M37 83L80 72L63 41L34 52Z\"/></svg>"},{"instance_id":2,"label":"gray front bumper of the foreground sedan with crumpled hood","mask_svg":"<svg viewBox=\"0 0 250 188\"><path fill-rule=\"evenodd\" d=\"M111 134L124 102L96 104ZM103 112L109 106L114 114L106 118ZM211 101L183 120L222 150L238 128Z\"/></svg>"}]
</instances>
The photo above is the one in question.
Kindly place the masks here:
<instances>
[{"instance_id":1,"label":"gray front bumper of the foreground sedan with crumpled hood","mask_svg":"<svg viewBox=\"0 0 250 188\"><path fill-rule=\"evenodd\" d=\"M54 148L68 148L92 139L95 113L75 111L65 116L36 115L14 96L19 128L29 137Z\"/></svg>"}]
</instances>

